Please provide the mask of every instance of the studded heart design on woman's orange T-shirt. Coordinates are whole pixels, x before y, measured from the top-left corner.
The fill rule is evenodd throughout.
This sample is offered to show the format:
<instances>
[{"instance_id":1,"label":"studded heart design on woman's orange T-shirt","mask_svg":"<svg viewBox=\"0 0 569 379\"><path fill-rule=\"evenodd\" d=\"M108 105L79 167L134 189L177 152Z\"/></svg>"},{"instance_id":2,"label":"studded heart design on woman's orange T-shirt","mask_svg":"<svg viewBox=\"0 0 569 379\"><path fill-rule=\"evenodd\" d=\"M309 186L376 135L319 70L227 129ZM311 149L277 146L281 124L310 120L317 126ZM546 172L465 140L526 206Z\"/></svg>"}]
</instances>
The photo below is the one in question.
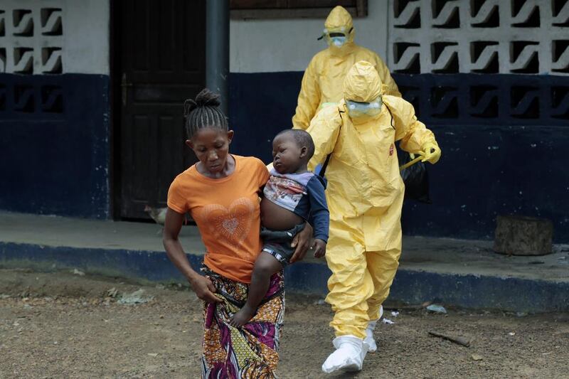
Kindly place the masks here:
<instances>
[{"instance_id":1,"label":"studded heart design on woman's orange T-shirt","mask_svg":"<svg viewBox=\"0 0 569 379\"><path fill-rule=\"evenodd\" d=\"M210 233L231 245L240 245L248 236L253 222L255 204L249 198L238 198L229 205L209 204L201 215Z\"/></svg>"}]
</instances>

